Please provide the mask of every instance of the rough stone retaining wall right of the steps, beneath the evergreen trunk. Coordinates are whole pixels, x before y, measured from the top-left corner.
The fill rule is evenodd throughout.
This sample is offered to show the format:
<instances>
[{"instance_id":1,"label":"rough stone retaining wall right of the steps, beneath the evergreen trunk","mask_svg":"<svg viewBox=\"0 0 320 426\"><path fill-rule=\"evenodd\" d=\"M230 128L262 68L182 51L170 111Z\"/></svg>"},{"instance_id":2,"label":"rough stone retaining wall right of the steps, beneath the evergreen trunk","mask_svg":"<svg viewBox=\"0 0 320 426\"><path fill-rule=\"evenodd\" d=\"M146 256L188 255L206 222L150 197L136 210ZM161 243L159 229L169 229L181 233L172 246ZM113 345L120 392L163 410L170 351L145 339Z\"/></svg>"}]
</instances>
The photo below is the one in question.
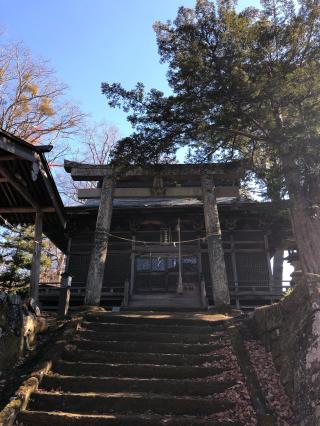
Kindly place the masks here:
<instances>
[{"instance_id":1,"label":"rough stone retaining wall right of the steps, beneath the evergreen trunk","mask_svg":"<svg viewBox=\"0 0 320 426\"><path fill-rule=\"evenodd\" d=\"M299 425L320 425L320 277L301 276L279 303L256 309L250 324L272 353Z\"/></svg>"}]
</instances>

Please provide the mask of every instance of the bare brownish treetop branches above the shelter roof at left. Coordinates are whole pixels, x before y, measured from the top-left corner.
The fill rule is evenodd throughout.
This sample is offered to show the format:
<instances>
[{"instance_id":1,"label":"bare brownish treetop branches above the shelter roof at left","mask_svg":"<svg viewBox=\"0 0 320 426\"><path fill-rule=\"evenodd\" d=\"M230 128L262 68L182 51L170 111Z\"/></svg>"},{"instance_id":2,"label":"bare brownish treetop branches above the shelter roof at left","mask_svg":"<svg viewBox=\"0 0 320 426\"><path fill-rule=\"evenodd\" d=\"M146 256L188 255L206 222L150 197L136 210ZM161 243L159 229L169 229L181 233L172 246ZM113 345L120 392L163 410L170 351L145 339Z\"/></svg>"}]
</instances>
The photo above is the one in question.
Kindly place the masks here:
<instances>
[{"instance_id":1,"label":"bare brownish treetop branches above the shelter roof at left","mask_svg":"<svg viewBox=\"0 0 320 426\"><path fill-rule=\"evenodd\" d=\"M0 45L0 127L37 144L79 131L84 114L65 98L67 87L21 43Z\"/></svg>"}]
</instances>

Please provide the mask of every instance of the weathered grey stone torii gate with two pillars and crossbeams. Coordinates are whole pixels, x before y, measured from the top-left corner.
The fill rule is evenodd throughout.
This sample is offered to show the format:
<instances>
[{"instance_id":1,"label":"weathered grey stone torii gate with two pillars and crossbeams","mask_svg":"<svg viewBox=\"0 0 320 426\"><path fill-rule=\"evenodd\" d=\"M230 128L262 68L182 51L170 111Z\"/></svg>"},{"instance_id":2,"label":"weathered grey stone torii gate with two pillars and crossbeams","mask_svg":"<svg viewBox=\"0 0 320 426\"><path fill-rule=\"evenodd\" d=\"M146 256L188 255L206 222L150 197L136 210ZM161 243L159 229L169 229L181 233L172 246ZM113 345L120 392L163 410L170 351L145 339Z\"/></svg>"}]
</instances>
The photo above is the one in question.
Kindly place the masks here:
<instances>
[{"instance_id":1,"label":"weathered grey stone torii gate with two pillars and crossbeams","mask_svg":"<svg viewBox=\"0 0 320 426\"><path fill-rule=\"evenodd\" d=\"M143 197L154 194L152 188L117 188L117 181L123 177L149 176L157 179L198 177L199 186L170 188L171 196L201 197L203 200L204 220L206 227L211 284L215 306L230 304L224 252L221 241L221 229L216 201L215 178L220 178L225 173L221 165L157 165L146 168L130 167L125 171L110 166L88 165L76 162L65 161L65 170L71 173L71 177L76 181L100 181L101 188L79 190L79 198L100 198L96 228L94 232L94 245L91 253L85 293L86 305L99 305L103 275L108 250L108 238L112 218L113 198ZM239 177L239 168L231 171L231 174ZM169 188L168 188L169 189ZM234 188L233 188L234 189ZM148 191L149 190L149 193ZM232 187L230 189L232 192ZM158 191L159 192L159 191ZM161 198L165 196L165 188ZM169 191L168 191L169 192ZM233 191L233 195L234 191Z\"/></svg>"}]
</instances>

